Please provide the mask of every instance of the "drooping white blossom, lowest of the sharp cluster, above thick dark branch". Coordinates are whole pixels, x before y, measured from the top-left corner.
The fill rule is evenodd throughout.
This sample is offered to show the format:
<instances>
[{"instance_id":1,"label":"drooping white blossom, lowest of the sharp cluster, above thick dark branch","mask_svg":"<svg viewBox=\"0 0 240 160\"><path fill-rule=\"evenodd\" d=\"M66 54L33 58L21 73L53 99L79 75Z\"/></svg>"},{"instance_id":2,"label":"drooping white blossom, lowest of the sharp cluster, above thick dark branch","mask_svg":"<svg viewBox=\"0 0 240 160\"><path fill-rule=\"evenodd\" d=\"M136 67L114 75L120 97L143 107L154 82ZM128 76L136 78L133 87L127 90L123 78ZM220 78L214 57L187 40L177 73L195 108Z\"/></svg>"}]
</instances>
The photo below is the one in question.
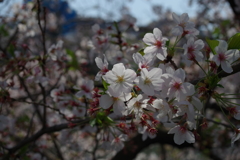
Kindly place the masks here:
<instances>
[{"instance_id":1,"label":"drooping white blossom, lowest of the sharp cluster, above thick dark branch","mask_svg":"<svg viewBox=\"0 0 240 160\"><path fill-rule=\"evenodd\" d=\"M195 143L195 136L185 126L177 125L169 130L168 134L174 134L174 142L178 145L185 141L188 143Z\"/></svg>"}]
</instances>

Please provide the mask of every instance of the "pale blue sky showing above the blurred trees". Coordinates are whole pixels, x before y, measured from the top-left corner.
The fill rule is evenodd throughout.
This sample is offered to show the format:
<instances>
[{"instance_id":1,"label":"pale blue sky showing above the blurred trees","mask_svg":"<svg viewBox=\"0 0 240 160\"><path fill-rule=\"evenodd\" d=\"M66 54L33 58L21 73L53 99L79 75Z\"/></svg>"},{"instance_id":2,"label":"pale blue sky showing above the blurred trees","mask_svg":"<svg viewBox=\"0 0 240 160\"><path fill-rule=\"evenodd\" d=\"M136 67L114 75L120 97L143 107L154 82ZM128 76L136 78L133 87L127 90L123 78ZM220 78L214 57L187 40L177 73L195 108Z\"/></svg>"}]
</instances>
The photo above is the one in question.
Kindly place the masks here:
<instances>
[{"instance_id":1,"label":"pale blue sky showing above the blurred trees","mask_svg":"<svg viewBox=\"0 0 240 160\"><path fill-rule=\"evenodd\" d=\"M4 0L0 3L0 16L6 14L8 7L4 6L7 1L12 3L22 3L23 0ZM162 5L163 10L171 11L181 15L188 13L190 18L196 16L196 10L199 6L193 3L189 6L189 0L66 0L69 5L82 17L100 17L109 21L120 19L120 9L126 6L125 10L137 19L137 25L144 26L157 20L158 16L154 14L152 6ZM9 3L11 4L11 3ZM159 15L161 16L161 15Z\"/></svg>"}]
</instances>

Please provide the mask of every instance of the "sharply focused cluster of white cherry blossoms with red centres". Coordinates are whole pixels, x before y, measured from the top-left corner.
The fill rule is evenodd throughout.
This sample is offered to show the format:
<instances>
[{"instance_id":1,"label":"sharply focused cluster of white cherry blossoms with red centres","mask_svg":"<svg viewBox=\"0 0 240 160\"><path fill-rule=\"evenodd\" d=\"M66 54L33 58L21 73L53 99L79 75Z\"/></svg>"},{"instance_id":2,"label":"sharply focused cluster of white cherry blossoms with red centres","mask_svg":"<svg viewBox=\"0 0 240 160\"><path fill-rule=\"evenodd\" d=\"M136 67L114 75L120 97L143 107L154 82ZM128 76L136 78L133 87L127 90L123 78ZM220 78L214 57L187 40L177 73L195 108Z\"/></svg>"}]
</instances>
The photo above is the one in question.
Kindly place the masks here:
<instances>
[{"instance_id":1,"label":"sharply focused cluster of white cherry blossoms with red centres","mask_svg":"<svg viewBox=\"0 0 240 160\"><path fill-rule=\"evenodd\" d=\"M186 44L182 47L186 66L196 64L203 69L200 64L207 59L209 67L215 63L216 67L221 65L227 73L233 71L231 65L238 60L239 51L229 50L227 42L221 40L213 48L215 55L206 57L203 53L205 44L197 39L199 32L189 21L188 15L184 13L177 16L173 13L173 19L177 24L172 29L172 34L177 36L173 45L163 37L160 29L154 28L153 33L147 33L143 38L147 45L144 50L132 56L137 71L123 63L114 64L112 69L108 69L104 55L103 60L99 57L95 59L100 69L95 80L102 81L105 88L100 96L99 107L112 113L112 117L131 119L131 123L127 124L129 128L125 127L124 132L134 126L139 128L139 133L154 138L157 124L162 123L171 128L168 133L174 134L174 142L180 145L185 141L196 141L197 117L203 117L202 92L207 91L201 91L201 87L186 82L186 72L176 68L172 50L182 38L186 38ZM203 71L206 77L214 74L211 71L207 73L205 69Z\"/></svg>"}]
</instances>

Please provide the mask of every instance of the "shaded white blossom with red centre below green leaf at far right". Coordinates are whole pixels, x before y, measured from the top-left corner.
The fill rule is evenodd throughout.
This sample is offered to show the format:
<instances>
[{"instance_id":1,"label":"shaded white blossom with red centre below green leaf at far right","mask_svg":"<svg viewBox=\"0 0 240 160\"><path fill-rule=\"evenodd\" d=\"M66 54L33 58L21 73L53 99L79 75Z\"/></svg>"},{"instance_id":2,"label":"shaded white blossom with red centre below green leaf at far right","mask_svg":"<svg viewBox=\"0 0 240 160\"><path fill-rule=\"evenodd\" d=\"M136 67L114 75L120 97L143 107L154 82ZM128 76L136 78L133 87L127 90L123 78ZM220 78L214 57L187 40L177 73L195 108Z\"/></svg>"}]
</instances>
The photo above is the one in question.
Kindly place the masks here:
<instances>
[{"instance_id":1,"label":"shaded white blossom with red centre below green leaf at far right","mask_svg":"<svg viewBox=\"0 0 240 160\"><path fill-rule=\"evenodd\" d=\"M218 46L215 48L216 55L212 60L217 64L221 65L221 68L226 73L233 71L231 64L239 58L238 50L227 50L228 44L226 41L220 40Z\"/></svg>"}]
</instances>

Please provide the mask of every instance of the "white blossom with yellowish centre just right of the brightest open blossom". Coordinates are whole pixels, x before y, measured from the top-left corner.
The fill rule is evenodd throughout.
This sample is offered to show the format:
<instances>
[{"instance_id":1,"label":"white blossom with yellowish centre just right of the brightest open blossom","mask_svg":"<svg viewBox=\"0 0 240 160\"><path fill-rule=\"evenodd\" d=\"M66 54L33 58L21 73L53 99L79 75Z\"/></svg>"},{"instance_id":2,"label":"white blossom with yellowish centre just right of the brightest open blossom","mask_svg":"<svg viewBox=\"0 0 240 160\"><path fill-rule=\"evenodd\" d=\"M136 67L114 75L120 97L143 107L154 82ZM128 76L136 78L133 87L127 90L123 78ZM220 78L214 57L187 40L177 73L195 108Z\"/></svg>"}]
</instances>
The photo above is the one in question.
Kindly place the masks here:
<instances>
[{"instance_id":1,"label":"white blossom with yellowish centre just right of the brightest open blossom","mask_svg":"<svg viewBox=\"0 0 240 160\"><path fill-rule=\"evenodd\" d=\"M155 91L160 91L163 80L161 79L162 70L160 68L153 68L148 71L146 68L141 70L141 76L137 77L135 82L141 90L149 95L154 95Z\"/></svg>"}]
</instances>

